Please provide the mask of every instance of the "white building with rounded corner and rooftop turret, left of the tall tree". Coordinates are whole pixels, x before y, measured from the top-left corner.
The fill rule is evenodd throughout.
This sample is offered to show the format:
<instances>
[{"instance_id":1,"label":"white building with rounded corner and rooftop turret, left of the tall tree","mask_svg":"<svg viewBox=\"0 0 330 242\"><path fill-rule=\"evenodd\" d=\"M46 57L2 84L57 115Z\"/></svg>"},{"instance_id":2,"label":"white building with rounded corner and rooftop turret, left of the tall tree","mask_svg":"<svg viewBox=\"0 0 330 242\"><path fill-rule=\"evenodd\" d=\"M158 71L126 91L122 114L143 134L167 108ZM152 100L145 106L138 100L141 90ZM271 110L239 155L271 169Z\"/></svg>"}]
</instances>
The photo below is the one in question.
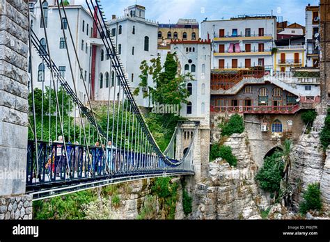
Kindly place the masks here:
<instances>
[{"instance_id":1,"label":"white building with rounded corner and rooftop turret, left of the tall tree","mask_svg":"<svg viewBox=\"0 0 330 242\"><path fill-rule=\"evenodd\" d=\"M140 83L142 61L150 61L157 57L158 24L146 19L145 7L133 5L124 10L123 17L113 15L111 21L108 22L108 27L120 61L127 73L129 84L134 90ZM111 78L113 75L114 72L111 71ZM151 85L152 83L149 86ZM107 97L106 93L107 90L100 90L100 98ZM143 99L142 92L136 97L136 101L141 106L149 106L149 100Z\"/></svg>"}]
</instances>

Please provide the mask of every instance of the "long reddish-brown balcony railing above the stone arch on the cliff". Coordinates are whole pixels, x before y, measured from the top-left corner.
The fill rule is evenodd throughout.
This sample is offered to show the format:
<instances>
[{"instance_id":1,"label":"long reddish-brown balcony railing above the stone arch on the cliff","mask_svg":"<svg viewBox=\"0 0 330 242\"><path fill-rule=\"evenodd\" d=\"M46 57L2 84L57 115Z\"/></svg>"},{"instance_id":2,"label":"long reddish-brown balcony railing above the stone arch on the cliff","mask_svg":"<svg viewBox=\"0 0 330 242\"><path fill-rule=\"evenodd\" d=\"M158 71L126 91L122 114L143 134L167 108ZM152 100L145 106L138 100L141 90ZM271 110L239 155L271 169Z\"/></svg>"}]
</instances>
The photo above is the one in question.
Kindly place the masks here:
<instances>
[{"instance_id":1,"label":"long reddish-brown balcony railing above the stone arch on the cliff","mask_svg":"<svg viewBox=\"0 0 330 242\"><path fill-rule=\"evenodd\" d=\"M210 111L215 113L296 113L300 106L210 106Z\"/></svg>"}]
</instances>

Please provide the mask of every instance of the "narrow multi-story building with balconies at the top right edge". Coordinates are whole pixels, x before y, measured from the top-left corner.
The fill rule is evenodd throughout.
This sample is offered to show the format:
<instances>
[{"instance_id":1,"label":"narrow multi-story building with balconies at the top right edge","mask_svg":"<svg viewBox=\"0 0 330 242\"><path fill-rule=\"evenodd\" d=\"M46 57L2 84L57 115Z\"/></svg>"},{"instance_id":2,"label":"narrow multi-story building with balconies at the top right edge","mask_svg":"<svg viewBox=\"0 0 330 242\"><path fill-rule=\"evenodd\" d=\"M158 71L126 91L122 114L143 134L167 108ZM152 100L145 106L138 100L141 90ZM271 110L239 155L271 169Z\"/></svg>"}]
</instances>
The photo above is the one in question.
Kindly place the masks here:
<instances>
[{"instance_id":1,"label":"narrow multi-story building with balconies at the top right edge","mask_svg":"<svg viewBox=\"0 0 330 242\"><path fill-rule=\"evenodd\" d=\"M318 67L320 61L320 7L306 6L306 66Z\"/></svg>"}]
</instances>

